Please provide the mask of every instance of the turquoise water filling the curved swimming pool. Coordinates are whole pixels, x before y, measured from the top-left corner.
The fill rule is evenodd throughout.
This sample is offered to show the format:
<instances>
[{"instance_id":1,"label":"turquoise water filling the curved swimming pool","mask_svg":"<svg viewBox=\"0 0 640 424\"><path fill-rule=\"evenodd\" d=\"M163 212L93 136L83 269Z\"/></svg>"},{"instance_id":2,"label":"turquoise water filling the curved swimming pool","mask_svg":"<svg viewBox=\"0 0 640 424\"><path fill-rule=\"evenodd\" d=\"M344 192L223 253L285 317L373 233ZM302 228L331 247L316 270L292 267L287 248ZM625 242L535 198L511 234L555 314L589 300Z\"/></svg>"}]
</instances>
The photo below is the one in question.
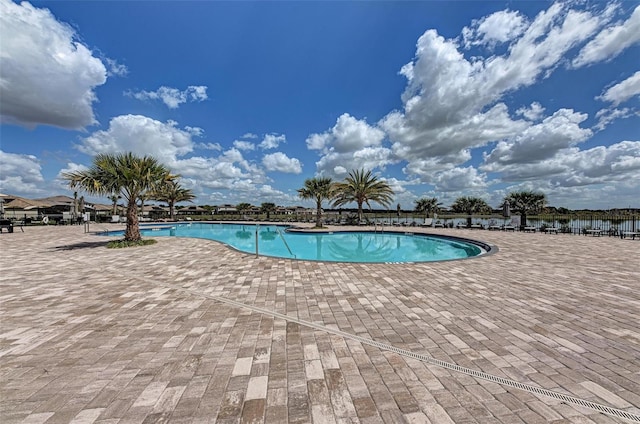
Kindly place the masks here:
<instances>
[{"instance_id":1,"label":"turquoise water filling the curved swimming pool","mask_svg":"<svg viewBox=\"0 0 640 424\"><path fill-rule=\"evenodd\" d=\"M216 240L233 248L279 258L330 262L429 262L463 259L486 251L453 238L394 232L287 232L276 225L154 224L141 225L142 235L196 237ZM115 235L117 233L110 233ZM120 233L122 234L122 233Z\"/></svg>"}]
</instances>

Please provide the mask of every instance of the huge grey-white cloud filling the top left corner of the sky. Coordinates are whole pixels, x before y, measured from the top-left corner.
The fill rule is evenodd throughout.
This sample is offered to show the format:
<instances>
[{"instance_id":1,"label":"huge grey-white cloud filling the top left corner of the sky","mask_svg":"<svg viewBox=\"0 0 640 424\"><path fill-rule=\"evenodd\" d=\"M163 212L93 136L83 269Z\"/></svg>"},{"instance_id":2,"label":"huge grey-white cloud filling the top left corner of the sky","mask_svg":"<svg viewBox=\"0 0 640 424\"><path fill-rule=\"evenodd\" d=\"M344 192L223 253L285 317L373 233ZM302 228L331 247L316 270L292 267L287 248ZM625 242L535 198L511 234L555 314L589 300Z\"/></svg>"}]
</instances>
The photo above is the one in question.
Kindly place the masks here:
<instances>
[{"instance_id":1,"label":"huge grey-white cloud filling the top left corner of the sky","mask_svg":"<svg viewBox=\"0 0 640 424\"><path fill-rule=\"evenodd\" d=\"M47 9L0 0L0 119L26 127L96 123L94 89L104 64Z\"/></svg>"}]
</instances>

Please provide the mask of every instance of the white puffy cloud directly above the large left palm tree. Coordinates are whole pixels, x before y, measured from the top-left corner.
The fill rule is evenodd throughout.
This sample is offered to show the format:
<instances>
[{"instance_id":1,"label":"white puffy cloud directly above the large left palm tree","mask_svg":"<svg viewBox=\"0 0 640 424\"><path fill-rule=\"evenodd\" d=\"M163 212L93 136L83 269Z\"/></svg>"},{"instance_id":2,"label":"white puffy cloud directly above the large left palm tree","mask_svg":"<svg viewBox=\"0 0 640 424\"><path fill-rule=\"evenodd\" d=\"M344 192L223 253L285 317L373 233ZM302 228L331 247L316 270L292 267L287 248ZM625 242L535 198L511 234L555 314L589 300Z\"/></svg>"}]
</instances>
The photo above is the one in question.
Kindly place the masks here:
<instances>
[{"instance_id":1,"label":"white puffy cloud directly above the large left palm tree","mask_svg":"<svg viewBox=\"0 0 640 424\"><path fill-rule=\"evenodd\" d=\"M141 115L121 115L109 122L107 130L81 139L78 150L88 155L133 152L151 155L167 166L193 150L192 133L174 121L160 122Z\"/></svg>"}]
</instances>

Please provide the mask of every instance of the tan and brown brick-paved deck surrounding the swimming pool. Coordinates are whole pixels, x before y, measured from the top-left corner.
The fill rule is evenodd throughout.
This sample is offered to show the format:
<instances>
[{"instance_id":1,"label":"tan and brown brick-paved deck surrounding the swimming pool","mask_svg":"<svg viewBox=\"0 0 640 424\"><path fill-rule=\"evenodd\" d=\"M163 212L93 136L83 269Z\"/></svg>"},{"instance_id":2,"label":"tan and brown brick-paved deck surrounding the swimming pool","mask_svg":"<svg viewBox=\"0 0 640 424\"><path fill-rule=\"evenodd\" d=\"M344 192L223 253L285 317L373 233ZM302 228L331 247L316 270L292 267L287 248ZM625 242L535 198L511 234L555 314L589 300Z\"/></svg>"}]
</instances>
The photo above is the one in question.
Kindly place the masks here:
<instances>
[{"instance_id":1,"label":"tan and brown brick-paved deck surrounding the swimming pool","mask_svg":"<svg viewBox=\"0 0 640 424\"><path fill-rule=\"evenodd\" d=\"M640 241L400 230L499 252L344 264L3 233L0 422L640 422Z\"/></svg>"}]
</instances>

